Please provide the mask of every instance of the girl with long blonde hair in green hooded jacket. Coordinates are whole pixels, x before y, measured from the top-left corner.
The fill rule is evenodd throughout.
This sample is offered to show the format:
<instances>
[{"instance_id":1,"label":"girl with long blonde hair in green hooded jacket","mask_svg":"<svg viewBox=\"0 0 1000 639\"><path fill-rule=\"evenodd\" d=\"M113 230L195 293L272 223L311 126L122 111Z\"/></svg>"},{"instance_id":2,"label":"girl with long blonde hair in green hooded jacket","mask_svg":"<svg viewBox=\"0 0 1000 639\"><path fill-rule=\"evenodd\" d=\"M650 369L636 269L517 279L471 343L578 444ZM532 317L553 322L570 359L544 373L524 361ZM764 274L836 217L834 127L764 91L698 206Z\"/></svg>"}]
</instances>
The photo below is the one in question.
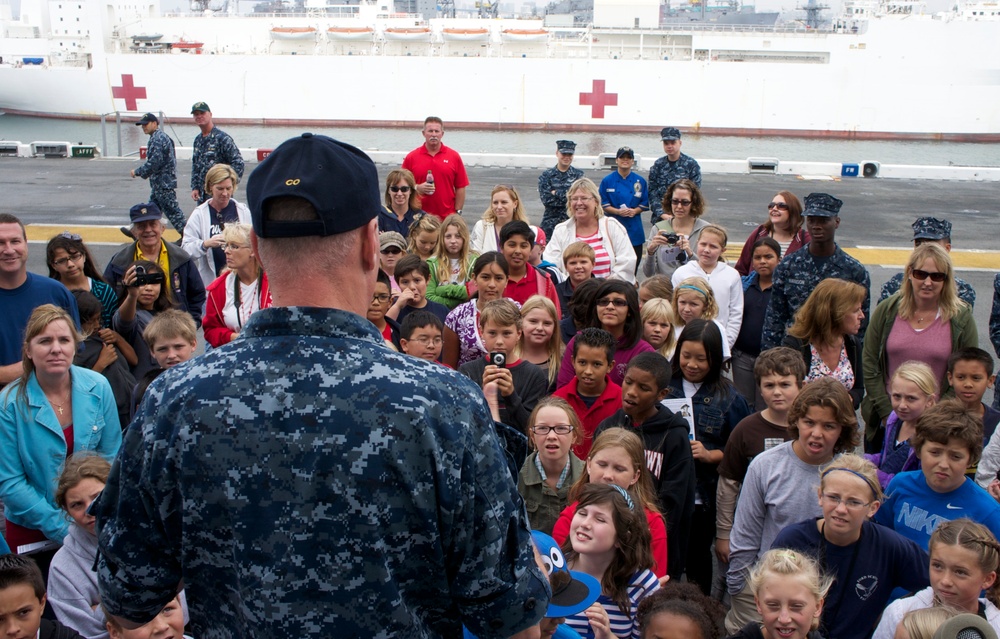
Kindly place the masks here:
<instances>
[{"instance_id":1,"label":"girl with long blonde hair in green hooded jacket","mask_svg":"<svg viewBox=\"0 0 1000 639\"><path fill-rule=\"evenodd\" d=\"M466 283L472 279L472 265L477 257L470 248L469 226L462 216L452 213L444 218L434 255L427 260L431 271L427 299L449 309L469 301Z\"/></svg>"}]
</instances>

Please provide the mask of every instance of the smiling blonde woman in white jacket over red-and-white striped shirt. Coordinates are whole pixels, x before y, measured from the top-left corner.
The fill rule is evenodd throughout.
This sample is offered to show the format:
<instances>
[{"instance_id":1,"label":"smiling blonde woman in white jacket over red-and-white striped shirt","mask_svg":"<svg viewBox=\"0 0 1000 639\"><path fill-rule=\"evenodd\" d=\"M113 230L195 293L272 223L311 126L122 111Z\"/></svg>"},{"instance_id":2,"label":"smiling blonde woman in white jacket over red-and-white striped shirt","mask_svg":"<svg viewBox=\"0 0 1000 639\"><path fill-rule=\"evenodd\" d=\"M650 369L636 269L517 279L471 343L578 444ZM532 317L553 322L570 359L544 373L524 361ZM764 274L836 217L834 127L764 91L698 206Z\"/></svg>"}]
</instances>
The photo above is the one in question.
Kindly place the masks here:
<instances>
[{"instance_id":1,"label":"smiling blonde woman in white jacket over red-and-white striped shirt","mask_svg":"<svg viewBox=\"0 0 1000 639\"><path fill-rule=\"evenodd\" d=\"M543 259L565 274L562 252L573 242L586 242L594 249L594 277L615 277L635 282L635 251L628 231L618 220L605 217L597 185L580 178L566 191L569 219L558 224L545 247Z\"/></svg>"}]
</instances>

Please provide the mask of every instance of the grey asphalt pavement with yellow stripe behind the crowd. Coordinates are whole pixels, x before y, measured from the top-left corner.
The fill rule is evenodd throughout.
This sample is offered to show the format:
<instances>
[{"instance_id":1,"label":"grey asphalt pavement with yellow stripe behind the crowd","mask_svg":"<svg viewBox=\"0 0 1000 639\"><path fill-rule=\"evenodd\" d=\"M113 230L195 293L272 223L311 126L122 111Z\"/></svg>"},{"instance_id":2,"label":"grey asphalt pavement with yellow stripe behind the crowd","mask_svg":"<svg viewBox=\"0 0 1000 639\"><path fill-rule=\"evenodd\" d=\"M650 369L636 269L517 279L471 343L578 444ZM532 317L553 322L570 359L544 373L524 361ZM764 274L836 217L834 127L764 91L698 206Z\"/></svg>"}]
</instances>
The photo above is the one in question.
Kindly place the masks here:
<instances>
[{"instance_id":1,"label":"grey asphalt pavement with yellow stripe behind the crowd","mask_svg":"<svg viewBox=\"0 0 1000 639\"><path fill-rule=\"evenodd\" d=\"M97 261L106 264L125 239L117 228L127 224L129 207L149 197L148 183L129 177L129 171L139 164L136 159L0 158L0 211L13 213L29 225L29 269L47 272L44 241L70 227L91 245ZM248 164L247 170L255 166ZM179 168L178 200L182 209L192 210L187 195L190 165L181 162ZM380 165L380 176L392 168ZM602 171L588 173L596 182L604 175ZM537 223L541 219L537 171L471 168L469 179L472 184L465 217L470 227L486 209L495 184L514 185L531 220ZM944 180L707 174L703 191L708 209L704 217L724 226L732 238L730 250L738 250L764 220L767 202L780 190L799 197L825 192L844 201L838 243L868 266L876 299L882 283L900 269L912 248L913 220L924 215L950 220L954 225L952 258L959 276L976 289L980 344L993 353L987 326L993 276L1000 271L1000 186ZM243 200L240 191L236 199Z\"/></svg>"}]
</instances>

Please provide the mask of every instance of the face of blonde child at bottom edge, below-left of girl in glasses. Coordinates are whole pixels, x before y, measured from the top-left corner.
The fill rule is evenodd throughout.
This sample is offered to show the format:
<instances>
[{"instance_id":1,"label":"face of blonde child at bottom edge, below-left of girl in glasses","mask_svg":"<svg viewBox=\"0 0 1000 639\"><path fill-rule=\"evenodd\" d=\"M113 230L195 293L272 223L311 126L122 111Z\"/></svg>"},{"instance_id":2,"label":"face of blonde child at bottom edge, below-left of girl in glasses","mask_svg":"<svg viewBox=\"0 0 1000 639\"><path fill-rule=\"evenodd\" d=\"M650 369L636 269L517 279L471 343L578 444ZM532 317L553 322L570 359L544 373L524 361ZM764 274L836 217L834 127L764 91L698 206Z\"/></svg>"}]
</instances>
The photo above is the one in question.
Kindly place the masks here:
<instances>
[{"instance_id":1,"label":"face of blonde child at bottom edge, below-left of girl in glasses","mask_svg":"<svg viewBox=\"0 0 1000 639\"><path fill-rule=\"evenodd\" d=\"M823 613L823 601L817 600L800 579L790 576L765 579L754 600L772 639L806 639Z\"/></svg>"}]
</instances>

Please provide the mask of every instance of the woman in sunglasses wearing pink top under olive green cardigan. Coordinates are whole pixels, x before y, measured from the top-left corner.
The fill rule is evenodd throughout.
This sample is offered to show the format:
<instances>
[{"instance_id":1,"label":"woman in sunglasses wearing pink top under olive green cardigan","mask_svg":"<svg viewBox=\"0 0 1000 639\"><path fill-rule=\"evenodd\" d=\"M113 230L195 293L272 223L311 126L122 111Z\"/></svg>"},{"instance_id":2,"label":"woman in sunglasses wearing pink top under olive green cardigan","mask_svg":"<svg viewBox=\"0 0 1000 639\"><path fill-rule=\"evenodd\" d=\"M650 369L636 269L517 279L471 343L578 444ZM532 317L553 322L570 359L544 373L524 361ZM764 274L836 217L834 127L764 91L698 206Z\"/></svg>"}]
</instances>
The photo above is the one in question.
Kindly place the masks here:
<instances>
[{"instance_id":1,"label":"woman in sunglasses wearing pink top under olive green cardigan","mask_svg":"<svg viewBox=\"0 0 1000 639\"><path fill-rule=\"evenodd\" d=\"M979 344L972 309L956 290L948 253L937 244L921 244L910 254L902 288L875 307L861 355L868 389L861 403L866 448L881 447L892 412L888 384L900 364L915 360L930 366L944 397L950 389L948 358Z\"/></svg>"}]
</instances>

